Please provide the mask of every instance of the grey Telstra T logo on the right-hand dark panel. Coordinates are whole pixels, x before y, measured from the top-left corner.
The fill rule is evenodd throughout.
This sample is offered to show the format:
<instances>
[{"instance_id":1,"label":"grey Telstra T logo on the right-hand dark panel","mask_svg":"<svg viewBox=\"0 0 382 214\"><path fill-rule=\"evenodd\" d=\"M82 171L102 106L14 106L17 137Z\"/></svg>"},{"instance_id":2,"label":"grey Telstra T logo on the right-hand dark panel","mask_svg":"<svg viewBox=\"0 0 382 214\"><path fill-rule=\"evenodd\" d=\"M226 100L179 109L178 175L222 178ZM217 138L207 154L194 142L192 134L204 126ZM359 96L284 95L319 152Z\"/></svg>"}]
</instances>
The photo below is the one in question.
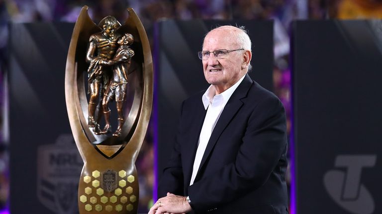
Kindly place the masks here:
<instances>
[{"instance_id":1,"label":"grey Telstra T logo on the right-hand dark panel","mask_svg":"<svg viewBox=\"0 0 382 214\"><path fill-rule=\"evenodd\" d=\"M324 186L330 197L343 209L352 214L372 214L374 199L361 183L364 167L376 164L376 155L339 155L334 166L346 171L333 169L325 173Z\"/></svg>"}]
</instances>

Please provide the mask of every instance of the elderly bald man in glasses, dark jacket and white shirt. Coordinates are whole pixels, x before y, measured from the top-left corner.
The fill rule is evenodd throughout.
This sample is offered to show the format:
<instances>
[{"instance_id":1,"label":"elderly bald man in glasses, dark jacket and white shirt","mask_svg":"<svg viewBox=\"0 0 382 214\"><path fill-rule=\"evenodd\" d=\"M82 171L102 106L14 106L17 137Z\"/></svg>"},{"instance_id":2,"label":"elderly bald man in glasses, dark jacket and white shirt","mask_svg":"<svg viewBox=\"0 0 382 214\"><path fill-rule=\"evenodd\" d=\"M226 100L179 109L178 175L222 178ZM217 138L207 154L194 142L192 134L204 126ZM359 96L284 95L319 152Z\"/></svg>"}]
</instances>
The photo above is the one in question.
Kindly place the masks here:
<instances>
[{"instance_id":1,"label":"elderly bald man in glasses, dark jacket and white shirt","mask_svg":"<svg viewBox=\"0 0 382 214\"><path fill-rule=\"evenodd\" d=\"M247 74L249 36L215 28L198 54L211 85L183 103L149 214L287 214L285 110Z\"/></svg>"}]
</instances>

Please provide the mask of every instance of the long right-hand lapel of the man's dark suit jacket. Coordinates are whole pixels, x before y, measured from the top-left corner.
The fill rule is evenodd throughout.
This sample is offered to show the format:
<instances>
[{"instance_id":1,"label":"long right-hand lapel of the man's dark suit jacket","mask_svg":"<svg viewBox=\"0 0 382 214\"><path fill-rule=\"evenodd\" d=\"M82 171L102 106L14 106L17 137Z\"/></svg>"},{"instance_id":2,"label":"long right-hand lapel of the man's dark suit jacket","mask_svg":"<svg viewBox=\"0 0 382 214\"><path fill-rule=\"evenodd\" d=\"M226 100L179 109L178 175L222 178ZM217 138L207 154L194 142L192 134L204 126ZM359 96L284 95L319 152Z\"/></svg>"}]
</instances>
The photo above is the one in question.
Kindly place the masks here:
<instances>
[{"instance_id":1,"label":"long right-hand lapel of the man's dark suit jacket","mask_svg":"<svg viewBox=\"0 0 382 214\"><path fill-rule=\"evenodd\" d=\"M221 133L224 131L225 127L229 124L229 122L232 120L232 118L235 116L237 111L241 108L243 105L243 102L241 99L245 98L248 94L248 90L251 88L253 81L251 78L246 74L243 81L240 83L240 85L237 87L235 92L232 94L231 98L228 100L227 104L225 105L223 111L221 112L221 115L215 125L215 128L213 129L211 133L211 137L209 138L207 147L205 148L203 158L201 159L199 169L196 174L195 181L200 176L199 172L200 169L203 167L205 161L207 160L209 154L213 150L217 140L219 139ZM205 115L205 114L204 114ZM204 119L204 117L203 117ZM203 120L202 120L203 122ZM202 125L202 123L201 123ZM200 126L201 129L201 126ZM200 134L200 129L198 130ZM199 134L197 136L199 137ZM194 154L195 156L195 154ZM192 159L194 160L194 159ZM191 177L191 176L190 176Z\"/></svg>"}]
</instances>

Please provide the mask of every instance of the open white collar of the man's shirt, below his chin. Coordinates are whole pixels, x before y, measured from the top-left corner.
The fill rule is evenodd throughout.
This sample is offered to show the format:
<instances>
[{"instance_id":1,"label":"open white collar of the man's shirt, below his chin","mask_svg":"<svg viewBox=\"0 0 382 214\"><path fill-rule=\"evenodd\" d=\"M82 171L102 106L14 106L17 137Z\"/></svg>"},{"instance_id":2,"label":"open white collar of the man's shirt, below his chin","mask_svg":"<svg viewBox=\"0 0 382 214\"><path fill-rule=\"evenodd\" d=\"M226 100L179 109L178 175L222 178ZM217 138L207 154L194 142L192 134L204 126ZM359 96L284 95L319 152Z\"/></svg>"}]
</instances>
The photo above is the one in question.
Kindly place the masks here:
<instances>
[{"instance_id":1,"label":"open white collar of the man's shirt, below his chin","mask_svg":"<svg viewBox=\"0 0 382 214\"><path fill-rule=\"evenodd\" d=\"M212 103L213 101L213 98L216 96L221 96L223 98L223 104L225 106L225 104L227 104L229 98L231 97L231 95L233 94L233 92L236 90L236 88L240 85L240 83L243 81L244 77L246 75L244 75L243 77L241 77L239 79L239 81L237 81L233 86L229 87L227 90L223 91L222 93L220 93L219 95L216 95L215 94L215 86L214 85L210 85L207 89L207 91L205 91L205 93L203 94L203 96L201 97L201 101L203 102L203 106L204 106L204 109L207 109L207 107L209 106L210 103Z\"/></svg>"}]
</instances>

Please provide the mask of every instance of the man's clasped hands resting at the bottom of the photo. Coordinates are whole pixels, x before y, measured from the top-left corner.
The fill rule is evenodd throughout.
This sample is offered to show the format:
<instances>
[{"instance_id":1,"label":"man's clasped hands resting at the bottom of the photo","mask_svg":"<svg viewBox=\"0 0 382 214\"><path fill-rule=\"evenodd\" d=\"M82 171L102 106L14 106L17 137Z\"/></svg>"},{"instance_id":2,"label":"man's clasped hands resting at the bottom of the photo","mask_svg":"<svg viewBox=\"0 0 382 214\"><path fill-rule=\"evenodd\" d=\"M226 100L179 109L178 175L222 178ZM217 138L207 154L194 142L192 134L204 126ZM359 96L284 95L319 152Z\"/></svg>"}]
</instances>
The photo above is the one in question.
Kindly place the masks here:
<instances>
[{"instance_id":1,"label":"man's clasped hands resting at the bottom of the photo","mask_svg":"<svg viewBox=\"0 0 382 214\"><path fill-rule=\"evenodd\" d=\"M166 197L158 199L149 214L185 214L191 210L186 197L167 193Z\"/></svg>"}]
</instances>

